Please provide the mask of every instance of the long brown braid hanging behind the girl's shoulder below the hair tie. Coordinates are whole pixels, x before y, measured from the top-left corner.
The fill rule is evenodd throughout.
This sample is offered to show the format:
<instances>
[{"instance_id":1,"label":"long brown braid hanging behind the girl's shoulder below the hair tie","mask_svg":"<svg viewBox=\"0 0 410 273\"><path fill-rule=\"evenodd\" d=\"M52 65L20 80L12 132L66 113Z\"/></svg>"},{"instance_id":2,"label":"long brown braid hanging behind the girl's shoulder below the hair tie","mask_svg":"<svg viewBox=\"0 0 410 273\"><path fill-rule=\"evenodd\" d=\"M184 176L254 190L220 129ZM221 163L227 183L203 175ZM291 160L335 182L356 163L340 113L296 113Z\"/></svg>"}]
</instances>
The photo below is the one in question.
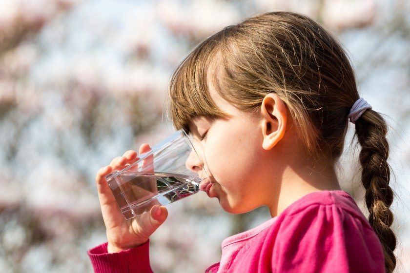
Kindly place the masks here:
<instances>
[{"instance_id":1,"label":"long brown braid hanging behind the girl's shoulder below the hair tie","mask_svg":"<svg viewBox=\"0 0 410 273\"><path fill-rule=\"evenodd\" d=\"M356 121L356 135L362 146L359 160L362 165L362 183L366 189L366 205L370 213L369 222L382 243L386 272L391 273L396 266L393 253L396 236L390 228L393 223L393 214L390 211L393 191L389 186L387 131L384 118L372 110L366 111Z\"/></svg>"}]
</instances>

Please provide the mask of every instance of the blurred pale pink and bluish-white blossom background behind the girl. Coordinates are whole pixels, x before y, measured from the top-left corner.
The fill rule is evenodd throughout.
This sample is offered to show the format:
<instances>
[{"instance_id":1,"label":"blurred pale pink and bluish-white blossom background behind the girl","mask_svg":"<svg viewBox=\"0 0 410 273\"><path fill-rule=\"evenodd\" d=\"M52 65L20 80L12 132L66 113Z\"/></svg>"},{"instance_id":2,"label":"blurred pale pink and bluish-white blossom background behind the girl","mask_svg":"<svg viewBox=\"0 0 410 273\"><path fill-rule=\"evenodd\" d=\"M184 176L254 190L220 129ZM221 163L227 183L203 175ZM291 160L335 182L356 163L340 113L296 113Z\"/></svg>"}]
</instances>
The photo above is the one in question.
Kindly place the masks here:
<instances>
[{"instance_id":1,"label":"blurred pale pink and bluish-white blossom background behind the girl","mask_svg":"<svg viewBox=\"0 0 410 273\"><path fill-rule=\"evenodd\" d=\"M106 241L97 170L174 129L164 98L202 39L267 11L294 11L344 44L359 93L390 123L396 272L410 272L410 1L0 0L0 272L91 272ZM358 148L340 161L364 213ZM154 272L204 272L222 240L269 219L229 215L204 193L168 206L152 236Z\"/></svg>"}]
</instances>

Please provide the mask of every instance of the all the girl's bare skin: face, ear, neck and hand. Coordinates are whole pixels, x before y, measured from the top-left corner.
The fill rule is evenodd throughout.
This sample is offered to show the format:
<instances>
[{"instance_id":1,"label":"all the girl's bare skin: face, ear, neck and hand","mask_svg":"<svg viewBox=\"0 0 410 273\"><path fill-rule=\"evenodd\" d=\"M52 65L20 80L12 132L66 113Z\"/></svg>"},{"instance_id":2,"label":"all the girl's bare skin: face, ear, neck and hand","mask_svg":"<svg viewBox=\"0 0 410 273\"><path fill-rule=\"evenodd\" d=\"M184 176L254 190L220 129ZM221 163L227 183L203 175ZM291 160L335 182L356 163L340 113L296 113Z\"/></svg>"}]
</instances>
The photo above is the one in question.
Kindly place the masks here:
<instances>
[{"instance_id":1,"label":"all the girl's bare skin: face, ear, neck and hand","mask_svg":"<svg viewBox=\"0 0 410 273\"><path fill-rule=\"evenodd\" d=\"M208 86L216 105L230 117L191 121L193 143L205 165L190 156L186 166L200 176L206 170L212 182L209 195L218 198L226 212L240 214L267 206L273 217L304 195L340 190L333 163L325 157L315 161L306 154L281 98L268 94L260 111L249 114L221 98L210 82ZM143 144L139 153L149 150ZM108 253L142 245L168 215L165 207L155 205L149 213L123 218L104 176L136 160L137 152L129 150L96 176Z\"/></svg>"}]
</instances>

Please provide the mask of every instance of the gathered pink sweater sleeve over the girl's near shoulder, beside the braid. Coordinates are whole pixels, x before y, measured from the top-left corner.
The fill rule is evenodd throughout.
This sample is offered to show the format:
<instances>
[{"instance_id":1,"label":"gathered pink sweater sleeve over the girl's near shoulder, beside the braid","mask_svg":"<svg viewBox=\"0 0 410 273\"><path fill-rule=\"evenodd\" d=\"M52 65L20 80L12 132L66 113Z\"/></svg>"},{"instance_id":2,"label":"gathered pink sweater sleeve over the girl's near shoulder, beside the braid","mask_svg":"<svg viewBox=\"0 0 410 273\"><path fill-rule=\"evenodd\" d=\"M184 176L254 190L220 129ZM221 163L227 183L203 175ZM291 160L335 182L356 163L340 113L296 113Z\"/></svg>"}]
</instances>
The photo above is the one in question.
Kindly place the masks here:
<instances>
[{"instance_id":1,"label":"gathered pink sweater sleeve over the girl's near shoulder, beside the braid","mask_svg":"<svg viewBox=\"0 0 410 273\"><path fill-rule=\"evenodd\" d=\"M287 215L276 238L273 272L385 272L381 243L367 219L334 204Z\"/></svg>"}]
</instances>

